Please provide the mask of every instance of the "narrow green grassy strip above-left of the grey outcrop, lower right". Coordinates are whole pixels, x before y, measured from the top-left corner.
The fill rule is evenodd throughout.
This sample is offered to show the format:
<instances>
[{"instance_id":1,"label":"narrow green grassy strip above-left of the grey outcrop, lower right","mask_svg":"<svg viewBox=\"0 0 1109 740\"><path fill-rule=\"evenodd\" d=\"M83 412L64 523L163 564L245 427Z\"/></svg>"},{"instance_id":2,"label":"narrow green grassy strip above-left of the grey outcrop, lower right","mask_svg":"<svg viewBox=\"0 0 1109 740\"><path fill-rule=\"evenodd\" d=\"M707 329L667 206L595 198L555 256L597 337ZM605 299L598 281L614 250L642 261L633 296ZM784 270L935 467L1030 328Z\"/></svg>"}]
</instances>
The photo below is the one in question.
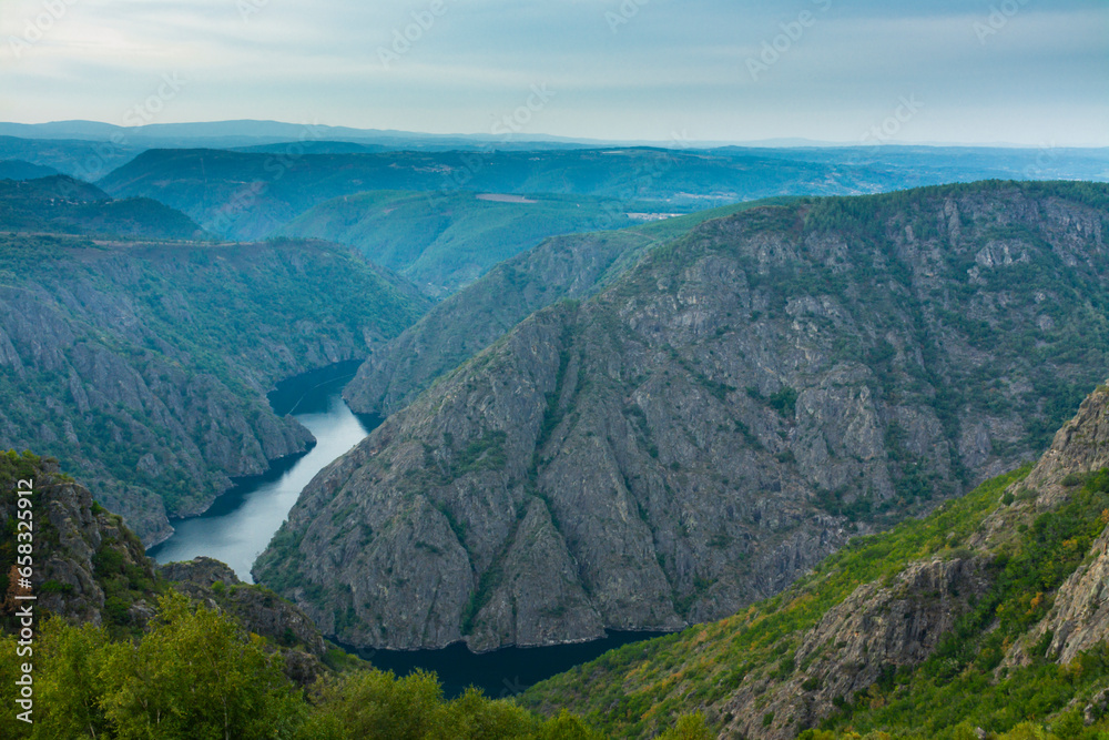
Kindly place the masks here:
<instances>
[{"instance_id":1,"label":"narrow green grassy strip above-left of the grey outcrop, lower right","mask_svg":"<svg viewBox=\"0 0 1109 740\"><path fill-rule=\"evenodd\" d=\"M786 591L733 617L624 646L545 681L520 701L551 711L568 706L612 737L644 737L660 719L714 704L749 672L769 670L804 630L858 586L897 574L913 560L943 555L998 505L1001 491L1028 468L994 478L920 520L861 537ZM952 538L954 534L954 538Z\"/></svg>"}]
</instances>

